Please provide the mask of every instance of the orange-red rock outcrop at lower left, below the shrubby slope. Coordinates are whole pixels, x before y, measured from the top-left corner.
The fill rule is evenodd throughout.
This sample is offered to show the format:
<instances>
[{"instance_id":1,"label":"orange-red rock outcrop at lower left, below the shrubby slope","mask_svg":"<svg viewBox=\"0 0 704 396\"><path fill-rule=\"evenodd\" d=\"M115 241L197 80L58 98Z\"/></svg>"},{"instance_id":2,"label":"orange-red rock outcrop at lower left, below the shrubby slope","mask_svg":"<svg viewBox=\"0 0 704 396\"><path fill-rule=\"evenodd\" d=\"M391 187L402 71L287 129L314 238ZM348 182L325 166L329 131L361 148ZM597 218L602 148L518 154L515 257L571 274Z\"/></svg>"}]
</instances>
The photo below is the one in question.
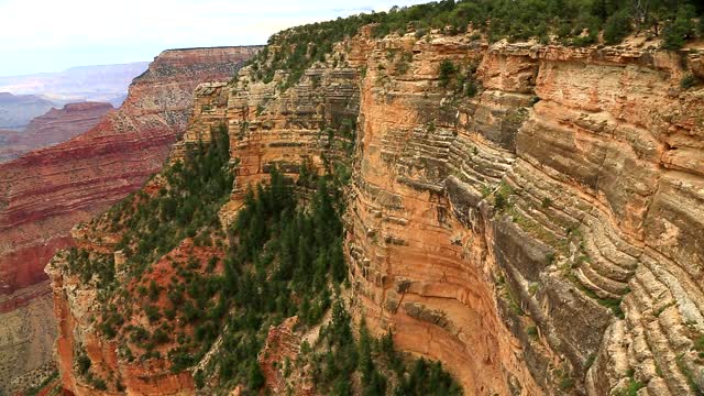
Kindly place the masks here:
<instances>
[{"instance_id":1,"label":"orange-red rock outcrop at lower left, below the shrubby slope","mask_svg":"<svg viewBox=\"0 0 704 396\"><path fill-rule=\"evenodd\" d=\"M94 245L92 241L84 239L80 230L74 233L78 246L86 250L102 252L106 246ZM215 249L194 248L193 241L184 241L158 263L155 263L151 275L141 282L133 282L129 292L136 295L138 287L148 285L154 280L161 290L167 290L170 278L176 274L176 266L187 265L191 256L200 258L201 274L206 273L207 260L217 252ZM63 253L63 252L62 252ZM72 394L80 395L111 395L107 391L121 389L138 395L190 395L195 392L194 380L189 372L170 371L170 363L166 359L168 351L177 341L158 346L157 353L163 359L135 359L132 351L136 351L134 339L128 341L127 331L119 338L107 339L98 331L95 323L100 315L100 296L95 284L81 282L80 276L68 275L67 260L62 253L57 254L46 272L52 280L54 292L54 315L58 322L58 338L56 341L56 360L62 378L62 387ZM116 254L116 265L120 265ZM221 268L218 268L221 270ZM143 284L143 285L142 285ZM167 306L166 293L155 301L160 309ZM119 312L139 311L141 301L133 301L132 306L120 307ZM116 309L117 310L117 309ZM152 330L150 320L143 315L132 315L125 318L127 327L138 326ZM190 329L189 337L193 337ZM90 360L90 371L79 372L79 358ZM102 386L98 386L102 382Z\"/></svg>"}]
</instances>

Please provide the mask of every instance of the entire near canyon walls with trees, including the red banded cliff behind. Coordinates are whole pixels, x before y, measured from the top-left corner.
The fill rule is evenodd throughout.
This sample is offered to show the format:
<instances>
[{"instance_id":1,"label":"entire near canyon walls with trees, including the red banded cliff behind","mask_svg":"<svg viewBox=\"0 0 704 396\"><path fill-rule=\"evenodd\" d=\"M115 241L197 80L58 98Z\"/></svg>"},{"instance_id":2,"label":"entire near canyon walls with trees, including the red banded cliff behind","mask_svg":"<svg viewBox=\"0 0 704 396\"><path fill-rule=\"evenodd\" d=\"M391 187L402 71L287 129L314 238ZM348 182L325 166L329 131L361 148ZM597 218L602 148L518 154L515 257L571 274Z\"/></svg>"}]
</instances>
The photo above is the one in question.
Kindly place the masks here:
<instances>
[{"instance_id":1,"label":"entire near canyon walls with trees, including the red banded cliff behind","mask_svg":"<svg viewBox=\"0 0 704 396\"><path fill-rule=\"evenodd\" d=\"M477 3L166 51L0 165L2 391L702 395L702 10Z\"/></svg>"}]
</instances>

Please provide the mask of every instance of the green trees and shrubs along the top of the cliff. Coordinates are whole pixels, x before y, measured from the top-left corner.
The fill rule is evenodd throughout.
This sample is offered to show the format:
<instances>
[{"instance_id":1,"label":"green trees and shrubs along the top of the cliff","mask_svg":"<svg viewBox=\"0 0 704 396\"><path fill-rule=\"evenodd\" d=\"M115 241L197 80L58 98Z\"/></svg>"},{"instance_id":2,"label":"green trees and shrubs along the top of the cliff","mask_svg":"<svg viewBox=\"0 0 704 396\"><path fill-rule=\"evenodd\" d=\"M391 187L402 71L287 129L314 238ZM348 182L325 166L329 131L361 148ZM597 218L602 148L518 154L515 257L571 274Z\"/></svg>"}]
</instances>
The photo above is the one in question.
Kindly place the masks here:
<instances>
[{"instance_id":1,"label":"green trees and shrubs along the top of the cliff","mask_svg":"<svg viewBox=\"0 0 704 396\"><path fill-rule=\"evenodd\" d=\"M704 35L704 2L695 0L442 0L287 29L272 35L275 46L251 64L254 78L265 82L275 70L288 72L285 90L315 62L327 62L336 43L369 24L376 37L413 31L422 36L428 30L458 34L471 26L491 42L557 38L575 46L596 43L600 31L607 44L617 44L636 30L663 36L663 48L676 50L694 36L697 16Z\"/></svg>"}]
</instances>

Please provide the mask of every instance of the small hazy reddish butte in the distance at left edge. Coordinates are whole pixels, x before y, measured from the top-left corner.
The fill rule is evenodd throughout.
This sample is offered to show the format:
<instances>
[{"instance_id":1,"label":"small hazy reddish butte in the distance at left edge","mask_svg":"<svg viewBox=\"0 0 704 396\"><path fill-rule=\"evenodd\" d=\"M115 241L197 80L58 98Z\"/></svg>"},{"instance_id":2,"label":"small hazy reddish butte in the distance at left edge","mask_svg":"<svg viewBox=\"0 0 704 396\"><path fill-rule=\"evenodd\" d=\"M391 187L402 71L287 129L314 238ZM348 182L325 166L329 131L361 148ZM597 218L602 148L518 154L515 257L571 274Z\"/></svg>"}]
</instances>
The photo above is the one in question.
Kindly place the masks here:
<instances>
[{"instance_id":1,"label":"small hazy reddish butte in the distance at left edge","mask_svg":"<svg viewBox=\"0 0 704 396\"><path fill-rule=\"evenodd\" d=\"M110 103L70 103L63 109L51 109L32 121L22 132L0 131L0 162L65 142L94 128L107 113L114 110Z\"/></svg>"}]
</instances>

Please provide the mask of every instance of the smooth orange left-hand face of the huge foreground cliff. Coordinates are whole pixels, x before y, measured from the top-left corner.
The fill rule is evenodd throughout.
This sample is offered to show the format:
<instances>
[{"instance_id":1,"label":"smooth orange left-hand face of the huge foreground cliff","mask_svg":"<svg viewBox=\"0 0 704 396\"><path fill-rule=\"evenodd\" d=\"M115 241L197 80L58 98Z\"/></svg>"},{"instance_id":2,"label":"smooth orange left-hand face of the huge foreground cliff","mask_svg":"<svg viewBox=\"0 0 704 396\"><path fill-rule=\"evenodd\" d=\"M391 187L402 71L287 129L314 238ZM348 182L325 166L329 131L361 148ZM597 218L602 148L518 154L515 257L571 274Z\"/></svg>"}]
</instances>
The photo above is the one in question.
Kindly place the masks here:
<instances>
[{"instance_id":1,"label":"smooth orange left-hand face of the huge foreground cliff","mask_svg":"<svg viewBox=\"0 0 704 396\"><path fill-rule=\"evenodd\" d=\"M452 160L466 161L462 148L471 152L468 143L468 148L453 145L469 140L475 132L469 129L480 122L498 143L490 165L494 173L512 161L510 154L501 154L499 144L506 152L513 144L497 124L528 101L514 91L534 67L519 57L483 58L485 51L462 40L406 36L384 41L370 54L349 213L351 276L358 315L380 333L391 329L402 350L443 362L468 394L509 394L510 382L539 394L497 307L484 251L491 235L466 229L452 215L444 191ZM404 52L414 55L402 73L394 63ZM472 108L464 108L464 100L459 109L438 106L450 100L437 86L440 62L464 65L482 58L485 87L494 82L506 94L486 90ZM459 123L468 111L477 125L464 129ZM452 158L453 151L461 156Z\"/></svg>"}]
</instances>

